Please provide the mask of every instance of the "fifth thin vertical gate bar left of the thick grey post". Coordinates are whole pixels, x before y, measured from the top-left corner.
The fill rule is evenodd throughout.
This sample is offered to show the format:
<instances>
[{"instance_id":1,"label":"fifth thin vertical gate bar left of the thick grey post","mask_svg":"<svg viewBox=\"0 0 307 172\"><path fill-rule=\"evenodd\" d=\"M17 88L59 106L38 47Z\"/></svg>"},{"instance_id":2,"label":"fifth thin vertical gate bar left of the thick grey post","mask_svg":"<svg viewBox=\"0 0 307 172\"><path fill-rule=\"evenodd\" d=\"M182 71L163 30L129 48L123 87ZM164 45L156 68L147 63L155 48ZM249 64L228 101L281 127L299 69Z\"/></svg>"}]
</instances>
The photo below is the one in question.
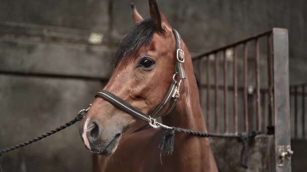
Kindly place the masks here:
<instances>
[{"instance_id":1,"label":"fifth thin vertical gate bar left of the thick grey post","mask_svg":"<svg viewBox=\"0 0 307 172\"><path fill-rule=\"evenodd\" d=\"M227 99L227 58L226 50L223 51L223 60L224 60L224 129L225 133L228 133L228 99Z\"/></svg>"}]
</instances>

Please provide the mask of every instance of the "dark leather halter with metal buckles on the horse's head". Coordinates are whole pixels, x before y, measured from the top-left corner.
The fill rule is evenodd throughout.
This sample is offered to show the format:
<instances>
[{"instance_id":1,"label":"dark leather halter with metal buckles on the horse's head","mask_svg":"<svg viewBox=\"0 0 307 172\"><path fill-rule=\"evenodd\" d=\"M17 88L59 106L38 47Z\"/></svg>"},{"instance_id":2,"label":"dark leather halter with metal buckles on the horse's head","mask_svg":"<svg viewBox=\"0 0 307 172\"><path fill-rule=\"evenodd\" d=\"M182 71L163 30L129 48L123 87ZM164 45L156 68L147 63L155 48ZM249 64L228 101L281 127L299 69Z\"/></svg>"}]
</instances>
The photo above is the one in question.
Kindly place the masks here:
<instances>
[{"instance_id":1,"label":"dark leather halter with metal buckles on the horse's head","mask_svg":"<svg viewBox=\"0 0 307 172\"><path fill-rule=\"evenodd\" d=\"M186 78L185 72L183 69L183 63L184 63L184 52L181 48L181 38L179 33L173 29L173 33L175 35L176 39L176 62L175 62L175 73L173 75L173 80L171 83L171 87L169 88L166 96L164 97L163 101L160 103L160 105L155 109L154 112L152 112L150 115L146 115L143 112L141 112L139 109L135 108L134 106L130 105L126 101L122 100L121 98L115 96L111 92L108 92L106 90L103 90L101 92L98 92L96 94L96 98L102 98L112 105L114 105L116 108L121 109L122 111L128 113L129 115L132 115L140 120L145 121L148 123L151 127L158 128L160 126L167 127L156 120L156 116L161 112L161 110L165 107L165 105L171 101L171 104L169 105L169 108L163 113L162 115L169 114L175 107L176 103L179 99L179 89L180 89L180 83L181 80ZM143 128L143 127L142 127Z\"/></svg>"}]
</instances>

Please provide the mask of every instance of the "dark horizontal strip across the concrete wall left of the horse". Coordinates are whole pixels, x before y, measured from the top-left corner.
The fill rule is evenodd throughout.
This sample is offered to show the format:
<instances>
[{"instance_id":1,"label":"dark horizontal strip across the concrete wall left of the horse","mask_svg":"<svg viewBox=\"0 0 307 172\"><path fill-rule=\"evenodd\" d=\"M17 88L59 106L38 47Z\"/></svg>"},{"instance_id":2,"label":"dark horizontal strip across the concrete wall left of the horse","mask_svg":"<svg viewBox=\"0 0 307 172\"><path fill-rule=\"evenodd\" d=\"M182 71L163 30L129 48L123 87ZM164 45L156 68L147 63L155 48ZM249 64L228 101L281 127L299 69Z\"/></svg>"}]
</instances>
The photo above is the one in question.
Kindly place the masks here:
<instances>
[{"instance_id":1,"label":"dark horizontal strip across the concrete wall left of the horse","mask_svg":"<svg viewBox=\"0 0 307 172\"><path fill-rule=\"evenodd\" d=\"M36 72L20 72L20 71L5 71L0 70L0 74L26 76L26 77L44 77L44 78L59 78L59 79L80 79L80 80L93 80L93 81L108 81L104 77L87 76L87 75L68 75L57 73L36 73Z\"/></svg>"}]
</instances>

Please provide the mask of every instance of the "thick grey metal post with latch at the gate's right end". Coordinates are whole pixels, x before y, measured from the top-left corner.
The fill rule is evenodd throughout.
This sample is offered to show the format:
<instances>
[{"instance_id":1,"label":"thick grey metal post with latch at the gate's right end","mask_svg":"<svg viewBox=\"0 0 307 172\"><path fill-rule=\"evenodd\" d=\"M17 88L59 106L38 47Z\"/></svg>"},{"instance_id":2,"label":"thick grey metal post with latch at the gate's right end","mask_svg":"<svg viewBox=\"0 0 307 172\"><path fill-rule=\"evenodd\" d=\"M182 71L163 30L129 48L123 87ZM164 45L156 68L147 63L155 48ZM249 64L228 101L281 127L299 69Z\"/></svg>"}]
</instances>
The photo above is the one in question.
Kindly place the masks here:
<instances>
[{"instance_id":1,"label":"thick grey metal post with latch at the gate's right end","mask_svg":"<svg viewBox=\"0 0 307 172\"><path fill-rule=\"evenodd\" d=\"M285 158L281 165L280 151L291 146L289 106L289 50L288 31L273 29L274 66L274 125L276 172L291 172L291 160Z\"/></svg>"}]
</instances>

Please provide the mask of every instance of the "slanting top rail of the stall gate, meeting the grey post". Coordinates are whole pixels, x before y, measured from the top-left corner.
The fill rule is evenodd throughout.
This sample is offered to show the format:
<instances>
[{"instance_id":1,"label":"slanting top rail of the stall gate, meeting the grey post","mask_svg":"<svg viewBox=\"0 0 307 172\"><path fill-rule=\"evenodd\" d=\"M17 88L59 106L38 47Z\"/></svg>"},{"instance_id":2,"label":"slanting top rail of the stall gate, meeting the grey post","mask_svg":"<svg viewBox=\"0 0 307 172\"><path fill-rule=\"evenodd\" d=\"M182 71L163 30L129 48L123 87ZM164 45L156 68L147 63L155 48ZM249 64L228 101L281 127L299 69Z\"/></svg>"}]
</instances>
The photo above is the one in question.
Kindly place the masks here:
<instances>
[{"instance_id":1,"label":"slanting top rail of the stall gate, meeting the grey post","mask_svg":"<svg viewBox=\"0 0 307 172\"><path fill-rule=\"evenodd\" d=\"M218 48L218 49L215 49L215 50L212 50L212 51L209 51L209 52L206 52L206 53L202 53L202 54L199 54L197 56L194 56L192 58L192 60L197 60L198 58L201 58L201 57L204 57L204 56L207 56L209 57L210 54L216 54L217 52L219 51L223 51L224 49L228 49L228 48L232 48L236 45L240 45L240 44L244 44L245 42L248 42L250 40L254 40L255 38L260 38L260 37L263 37L263 36L266 36L266 35L269 35L271 34L272 31L267 31L267 32L264 32L264 33L261 33L261 34L258 34L258 35L255 35L255 36L252 36L252 37L249 37L247 39L243 39L241 41L237 41L237 42L234 42L232 44L228 44L224 47L221 47L221 48Z\"/></svg>"}]
</instances>

